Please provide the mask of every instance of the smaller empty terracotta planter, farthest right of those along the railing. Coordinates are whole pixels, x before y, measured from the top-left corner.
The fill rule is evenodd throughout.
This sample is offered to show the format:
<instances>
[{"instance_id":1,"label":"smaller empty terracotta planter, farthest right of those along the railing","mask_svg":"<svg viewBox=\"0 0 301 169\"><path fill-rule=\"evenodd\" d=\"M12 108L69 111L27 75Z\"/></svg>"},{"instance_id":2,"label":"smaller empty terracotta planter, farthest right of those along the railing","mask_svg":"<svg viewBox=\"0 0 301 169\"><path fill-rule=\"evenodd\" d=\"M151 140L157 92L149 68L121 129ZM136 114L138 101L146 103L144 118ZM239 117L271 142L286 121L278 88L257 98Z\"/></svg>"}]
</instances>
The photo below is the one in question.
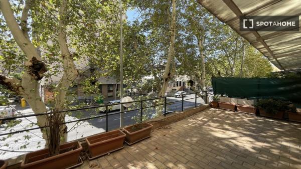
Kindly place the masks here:
<instances>
[{"instance_id":1,"label":"smaller empty terracotta planter, farthest right of those along the railing","mask_svg":"<svg viewBox=\"0 0 301 169\"><path fill-rule=\"evenodd\" d=\"M142 139L150 137L152 127L152 124L143 122L123 128L123 131L126 134L125 142L128 145L131 145Z\"/></svg>"}]
</instances>

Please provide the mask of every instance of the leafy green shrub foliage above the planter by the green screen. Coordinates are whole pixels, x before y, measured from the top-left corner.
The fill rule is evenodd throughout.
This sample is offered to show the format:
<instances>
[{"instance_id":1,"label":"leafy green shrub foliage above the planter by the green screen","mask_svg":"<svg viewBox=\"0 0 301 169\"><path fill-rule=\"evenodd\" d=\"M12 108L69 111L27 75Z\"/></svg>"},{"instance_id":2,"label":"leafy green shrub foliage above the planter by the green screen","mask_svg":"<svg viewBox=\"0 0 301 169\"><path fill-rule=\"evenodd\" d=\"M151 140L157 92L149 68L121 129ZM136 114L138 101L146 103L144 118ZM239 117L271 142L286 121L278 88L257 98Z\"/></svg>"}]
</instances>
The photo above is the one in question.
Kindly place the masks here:
<instances>
[{"instance_id":1,"label":"leafy green shrub foliage above the planter by the green screen","mask_svg":"<svg viewBox=\"0 0 301 169\"><path fill-rule=\"evenodd\" d=\"M277 114L279 111L288 110L290 102L274 99L259 99L255 104L256 107L263 109L266 113Z\"/></svg>"}]
</instances>

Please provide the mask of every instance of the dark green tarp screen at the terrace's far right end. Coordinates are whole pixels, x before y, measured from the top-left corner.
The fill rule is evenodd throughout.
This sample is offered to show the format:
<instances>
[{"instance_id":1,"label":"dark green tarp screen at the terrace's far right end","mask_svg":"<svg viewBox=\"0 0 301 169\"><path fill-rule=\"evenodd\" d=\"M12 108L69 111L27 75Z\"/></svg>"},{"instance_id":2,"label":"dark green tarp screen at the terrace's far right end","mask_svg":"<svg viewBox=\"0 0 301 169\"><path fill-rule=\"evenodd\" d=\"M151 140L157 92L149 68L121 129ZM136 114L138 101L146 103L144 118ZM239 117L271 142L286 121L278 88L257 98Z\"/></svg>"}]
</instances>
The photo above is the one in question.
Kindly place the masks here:
<instances>
[{"instance_id":1,"label":"dark green tarp screen at the terrace's far right end","mask_svg":"<svg viewBox=\"0 0 301 169\"><path fill-rule=\"evenodd\" d=\"M301 78L226 78L213 77L214 94L239 98L274 98L301 103Z\"/></svg>"}]
</instances>

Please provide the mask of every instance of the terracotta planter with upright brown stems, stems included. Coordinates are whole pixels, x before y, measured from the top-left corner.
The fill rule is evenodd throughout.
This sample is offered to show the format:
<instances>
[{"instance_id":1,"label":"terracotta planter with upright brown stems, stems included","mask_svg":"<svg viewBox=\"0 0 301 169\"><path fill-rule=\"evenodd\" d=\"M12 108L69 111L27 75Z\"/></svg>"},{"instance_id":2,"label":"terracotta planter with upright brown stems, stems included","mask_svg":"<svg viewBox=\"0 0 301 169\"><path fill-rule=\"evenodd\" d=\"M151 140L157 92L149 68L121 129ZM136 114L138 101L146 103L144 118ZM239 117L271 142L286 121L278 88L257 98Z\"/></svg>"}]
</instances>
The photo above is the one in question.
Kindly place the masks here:
<instances>
[{"instance_id":1,"label":"terracotta planter with upright brown stems, stems included","mask_svg":"<svg viewBox=\"0 0 301 169\"><path fill-rule=\"evenodd\" d=\"M79 155L82 150L81 144L78 141L73 141L60 145L63 113L56 111L45 116L48 122L48 124L45 125L48 148L26 154L21 163L21 168L51 169L80 165Z\"/></svg>"}]
</instances>

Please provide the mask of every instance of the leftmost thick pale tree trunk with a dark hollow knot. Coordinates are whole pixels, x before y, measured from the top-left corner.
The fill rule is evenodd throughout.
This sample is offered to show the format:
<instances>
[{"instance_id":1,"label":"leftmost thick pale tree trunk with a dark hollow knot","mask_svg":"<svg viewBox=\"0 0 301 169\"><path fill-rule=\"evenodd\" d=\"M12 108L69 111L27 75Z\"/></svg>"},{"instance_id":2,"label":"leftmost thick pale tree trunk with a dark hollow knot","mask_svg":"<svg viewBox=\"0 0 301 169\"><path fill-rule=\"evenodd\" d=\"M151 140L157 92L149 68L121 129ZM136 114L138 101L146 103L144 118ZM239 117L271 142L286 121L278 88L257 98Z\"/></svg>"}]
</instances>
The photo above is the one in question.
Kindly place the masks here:
<instances>
[{"instance_id":1,"label":"leftmost thick pale tree trunk with a dark hollow knot","mask_svg":"<svg viewBox=\"0 0 301 169\"><path fill-rule=\"evenodd\" d=\"M41 96L39 94L39 81L43 78L44 73L47 71L46 65L41 61L40 55L37 53L35 46L30 41L26 23L28 18L28 11L30 9L31 1L27 1L22 13L21 18L21 27L20 29L17 20L13 14L11 5L8 0L0 1L0 9L6 20L6 23L21 50L25 53L27 57L27 70L24 72L22 76L21 82L16 82L17 79L8 79L4 76L1 76L0 84L5 85L8 89L16 91L19 95L25 98L25 100L29 103L35 114L45 113L46 105L44 104ZM37 69L37 67L39 67ZM4 79L4 80L3 80ZM7 83L9 81L13 81L15 83ZM37 124L42 127L47 124L47 120L45 116L37 116ZM47 136L45 130L41 129L43 133L43 138L47 140Z\"/></svg>"}]
</instances>

